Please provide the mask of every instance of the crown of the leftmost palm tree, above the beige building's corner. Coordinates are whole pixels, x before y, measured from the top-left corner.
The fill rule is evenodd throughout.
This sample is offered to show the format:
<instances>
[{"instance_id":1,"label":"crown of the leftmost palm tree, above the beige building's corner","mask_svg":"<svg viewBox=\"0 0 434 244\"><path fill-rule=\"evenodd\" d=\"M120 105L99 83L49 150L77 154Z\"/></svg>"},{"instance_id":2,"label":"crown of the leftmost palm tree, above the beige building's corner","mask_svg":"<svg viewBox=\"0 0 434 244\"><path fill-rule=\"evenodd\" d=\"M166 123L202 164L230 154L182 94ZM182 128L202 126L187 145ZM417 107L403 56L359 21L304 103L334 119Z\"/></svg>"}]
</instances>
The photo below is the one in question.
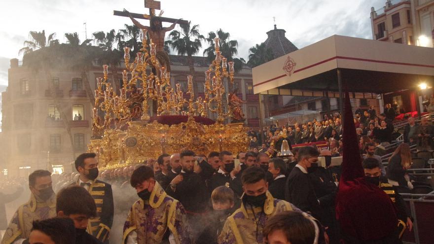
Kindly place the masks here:
<instances>
[{"instance_id":1,"label":"crown of the leftmost palm tree, above the beige building's corner","mask_svg":"<svg viewBox=\"0 0 434 244\"><path fill-rule=\"evenodd\" d=\"M51 33L48 35L48 38L45 36L45 30L42 30L42 32L35 32L31 31L29 33L30 40L24 41L25 47L21 48L18 51L18 54L28 54L30 52L33 52L37 49L42 49L45 47L49 47L55 44L59 44L58 39L54 39L56 37L56 33Z\"/></svg>"}]
</instances>

